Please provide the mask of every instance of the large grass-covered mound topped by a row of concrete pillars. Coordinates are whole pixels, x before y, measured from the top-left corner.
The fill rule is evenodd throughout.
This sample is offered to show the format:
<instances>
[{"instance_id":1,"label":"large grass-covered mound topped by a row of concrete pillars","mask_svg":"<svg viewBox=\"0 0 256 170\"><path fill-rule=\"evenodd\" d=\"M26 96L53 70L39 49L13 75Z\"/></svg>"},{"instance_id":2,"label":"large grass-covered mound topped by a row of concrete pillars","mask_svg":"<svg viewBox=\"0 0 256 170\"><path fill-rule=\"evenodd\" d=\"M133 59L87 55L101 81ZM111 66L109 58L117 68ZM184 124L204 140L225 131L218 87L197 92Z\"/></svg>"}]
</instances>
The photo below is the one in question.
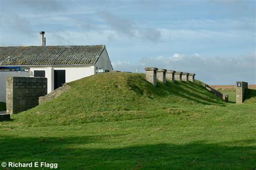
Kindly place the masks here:
<instances>
[{"instance_id":1,"label":"large grass-covered mound topped by a row of concrete pillars","mask_svg":"<svg viewBox=\"0 0 256 170\"><path fill-rule=\"evenodd\" d=\"M69 92L13 118L25 124L67 125L180 114L194 104L225 104L205 90L200 81L167 81L166 85L158 82L154 87L145 80L145 74L97 74L70 85Z\"/></svg>"}]
</instances>

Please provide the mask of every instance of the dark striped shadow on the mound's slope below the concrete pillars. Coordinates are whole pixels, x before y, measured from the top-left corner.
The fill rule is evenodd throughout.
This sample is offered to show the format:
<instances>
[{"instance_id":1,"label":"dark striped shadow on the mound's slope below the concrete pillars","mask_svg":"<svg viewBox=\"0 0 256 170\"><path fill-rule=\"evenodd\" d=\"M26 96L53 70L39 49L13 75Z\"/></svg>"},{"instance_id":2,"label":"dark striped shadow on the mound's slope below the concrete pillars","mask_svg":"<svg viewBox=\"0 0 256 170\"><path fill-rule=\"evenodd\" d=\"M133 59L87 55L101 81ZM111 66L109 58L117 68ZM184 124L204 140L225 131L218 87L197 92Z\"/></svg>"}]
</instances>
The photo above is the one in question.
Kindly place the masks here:
<instances>
[{"instance_id":1,"label":"dark striped shadow on the mound's slope below the concrete pillars","mask_svg":"<svg viewBox=\"0 0 256 170\"><path fill-rule=\"evenodd\" d=\"M153 99L152 96L166 97L172 95L203 105L217 104L226 106L222 100L197 83L185 81L175 81L173 83L171 81L166 81L166 84L164 84L158 81L157 86L154 87L147 82L144 77L140 77L139 80L134 78L130 79L128 85L131 87L131 90L138 95L147 95L147 97L151 99Z\"/></svg>"}]
</instances>

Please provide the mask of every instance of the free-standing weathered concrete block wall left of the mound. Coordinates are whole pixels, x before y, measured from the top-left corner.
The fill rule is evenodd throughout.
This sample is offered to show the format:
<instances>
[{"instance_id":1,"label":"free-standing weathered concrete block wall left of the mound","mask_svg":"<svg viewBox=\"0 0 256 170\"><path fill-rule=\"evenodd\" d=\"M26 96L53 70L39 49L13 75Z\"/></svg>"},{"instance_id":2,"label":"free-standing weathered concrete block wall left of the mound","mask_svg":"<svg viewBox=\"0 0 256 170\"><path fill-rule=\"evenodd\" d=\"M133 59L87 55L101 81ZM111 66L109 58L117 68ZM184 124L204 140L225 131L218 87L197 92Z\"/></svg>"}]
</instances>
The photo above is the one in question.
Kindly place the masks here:
<instances>
[{"instance_id":1,"label":"free-standing weathered concrete block wall left of the mound","mask_svg":"<svg viewBox=\"0 0 256 170\"><path fill-rule=\"evenodd\" d=\"M8 77L6 80L6 113L13 114L38 105L47 94L47 78Z\"/></svg>"}]
</instances>

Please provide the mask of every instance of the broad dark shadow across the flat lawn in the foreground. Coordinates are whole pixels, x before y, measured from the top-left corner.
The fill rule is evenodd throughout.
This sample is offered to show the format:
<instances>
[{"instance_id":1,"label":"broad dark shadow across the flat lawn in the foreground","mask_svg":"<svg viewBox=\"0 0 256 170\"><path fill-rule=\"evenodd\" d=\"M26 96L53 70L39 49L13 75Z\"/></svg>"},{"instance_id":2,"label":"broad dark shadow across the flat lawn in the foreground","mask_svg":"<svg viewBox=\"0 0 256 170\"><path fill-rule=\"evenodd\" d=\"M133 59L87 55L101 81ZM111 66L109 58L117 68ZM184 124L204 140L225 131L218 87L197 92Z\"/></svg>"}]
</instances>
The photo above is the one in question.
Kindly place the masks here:
<instances>
[{"instance_id":1,"label":"broad dark shadow across the flat lawn in the foreground","mask_svg":"<svg viewBox=\"0 0 256 170\"><path fill-rule=\"evenodd\" d=\"M115 147L119 135L0 140L0 161L58 163L59 169L254 169L254 140ZM241 145L251 145L242 147ZM237 146L235 146L237 145Z\"/></svg>"}]
</instances>

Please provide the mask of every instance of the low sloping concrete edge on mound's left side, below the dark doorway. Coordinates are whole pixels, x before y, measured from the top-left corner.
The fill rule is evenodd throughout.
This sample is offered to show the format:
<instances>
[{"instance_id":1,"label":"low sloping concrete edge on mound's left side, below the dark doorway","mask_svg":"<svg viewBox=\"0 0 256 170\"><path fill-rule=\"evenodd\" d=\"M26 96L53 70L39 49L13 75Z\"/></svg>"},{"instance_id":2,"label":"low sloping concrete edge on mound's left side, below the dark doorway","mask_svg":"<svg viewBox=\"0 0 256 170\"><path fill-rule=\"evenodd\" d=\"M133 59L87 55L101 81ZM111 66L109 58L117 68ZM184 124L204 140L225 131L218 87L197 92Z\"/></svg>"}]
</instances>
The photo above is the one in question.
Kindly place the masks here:
<instances>
[{"instance_id":1,"label":"low sloping concrete edge on mound's left side, below the dark doorway","mask_svg":"<svg viewBox=\"0 0 256 170\"><path fill-rule=\"evenodd\" d=\"M52 91L46 96L39 97L39 105L45 103L46 101L51 101L52 99L55 99L56 97L60 96L60 94L69 91L70 89L71 86L69 85L69 83L65 83L63 86L59 87L55 91Z\"/></svg>"}]
</instances>

